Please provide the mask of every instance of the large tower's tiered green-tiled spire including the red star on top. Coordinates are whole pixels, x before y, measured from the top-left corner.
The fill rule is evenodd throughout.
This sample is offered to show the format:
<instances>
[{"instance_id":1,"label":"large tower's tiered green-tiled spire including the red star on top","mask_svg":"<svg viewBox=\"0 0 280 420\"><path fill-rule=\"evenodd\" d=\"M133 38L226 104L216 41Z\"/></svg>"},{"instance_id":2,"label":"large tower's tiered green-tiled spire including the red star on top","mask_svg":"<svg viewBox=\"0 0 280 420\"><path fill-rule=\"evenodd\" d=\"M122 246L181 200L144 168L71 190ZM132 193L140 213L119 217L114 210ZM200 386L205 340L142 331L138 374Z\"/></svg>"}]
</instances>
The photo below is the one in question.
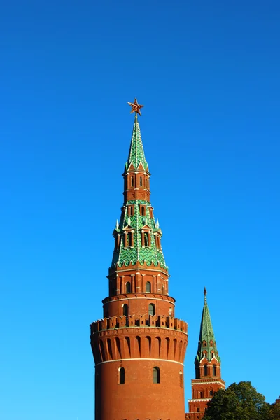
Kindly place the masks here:
<instances>
[{"instance_id":1,"label":"large tower's tiered green-tiled spire including the red star on top","mask_svg":"<svg viewBox=\"0 0 280 420\"><path fill-rule=\"evenodd\" d=\"M162 253L160 239L162 231L155 221L150 202L150 176L145 158L137 113L140 108L137 99L128 102L135 112L130 152L125 163L124 204L118 229L113 231L115 248L111 269L123 265L155 265L168 271Z\"/></svg>"}]
</instances>

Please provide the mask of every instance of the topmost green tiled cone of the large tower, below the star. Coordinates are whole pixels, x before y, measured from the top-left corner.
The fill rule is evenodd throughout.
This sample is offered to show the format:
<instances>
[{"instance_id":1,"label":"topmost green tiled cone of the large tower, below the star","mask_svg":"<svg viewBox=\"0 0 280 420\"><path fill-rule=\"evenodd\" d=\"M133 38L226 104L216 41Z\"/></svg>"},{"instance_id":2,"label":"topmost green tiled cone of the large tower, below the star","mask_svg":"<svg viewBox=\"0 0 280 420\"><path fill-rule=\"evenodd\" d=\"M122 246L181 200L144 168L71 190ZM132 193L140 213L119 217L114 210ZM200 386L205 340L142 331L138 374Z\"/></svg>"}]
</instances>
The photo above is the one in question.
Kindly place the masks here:
<instances>
[{"instance_id":1,"label":"topmost green tiled cone of the large tower, below the star","mask_svg":"<svg viewBox=\"0 0 280 420\"><path fill-rule=\"evenodd\" d=\"M125 164L125 169L127 170L131 164L134 166L134 169L137 169L140 162L143 165L145 170L148 169L148 163L146 162L146 158L145 158L137 113L135 113L132 139L130 143L130 153L128 155L127 162Z\"/></svg>"}]
</instances>

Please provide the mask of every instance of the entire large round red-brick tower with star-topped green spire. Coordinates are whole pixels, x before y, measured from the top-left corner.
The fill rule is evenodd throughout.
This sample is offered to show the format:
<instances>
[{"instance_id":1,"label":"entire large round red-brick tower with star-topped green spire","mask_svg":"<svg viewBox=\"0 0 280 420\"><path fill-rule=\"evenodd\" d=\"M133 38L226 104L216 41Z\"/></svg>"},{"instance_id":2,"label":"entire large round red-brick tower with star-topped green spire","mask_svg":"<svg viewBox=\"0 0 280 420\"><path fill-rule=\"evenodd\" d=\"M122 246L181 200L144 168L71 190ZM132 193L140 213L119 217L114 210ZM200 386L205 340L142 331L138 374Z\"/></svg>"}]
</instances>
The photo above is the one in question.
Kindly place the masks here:
<instances>
[{"instance_id":1,"label":"entire large round red-brick tower with star-topped green spire","mask_svg":"<svg viewBox=\"0 0 280 420\"><path fill-rule=\"evenodd\" d=\"M150 202L135 99L125 164L124 204L113 230L109 296L103 319L90 325L95 362L95 420L184 420L183 360L187 323L168 294L162 231Z\"/></svg>"}]
</instances>

